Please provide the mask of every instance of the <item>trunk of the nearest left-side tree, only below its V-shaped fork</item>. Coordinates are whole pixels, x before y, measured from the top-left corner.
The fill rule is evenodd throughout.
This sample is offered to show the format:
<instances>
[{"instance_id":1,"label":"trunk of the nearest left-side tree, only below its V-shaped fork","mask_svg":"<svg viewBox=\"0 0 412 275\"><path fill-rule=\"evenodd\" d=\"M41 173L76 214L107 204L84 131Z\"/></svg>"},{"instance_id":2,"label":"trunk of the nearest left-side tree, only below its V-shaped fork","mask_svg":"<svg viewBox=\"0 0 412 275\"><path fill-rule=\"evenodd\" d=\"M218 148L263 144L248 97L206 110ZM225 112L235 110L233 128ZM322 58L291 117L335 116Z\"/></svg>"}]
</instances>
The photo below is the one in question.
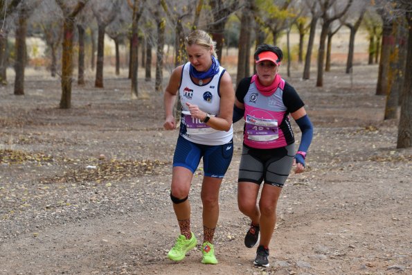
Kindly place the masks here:
<instances>
[{"instance_id":1,"label":"trunk of the nearest left-side tree, only below its V-shaped fork","mask_svg":"<svg viewBox=\"0 0 412 275\"><path fill-rule=\"evenodd\" d=\"M64 37L62 49L62 98L60 98L60 108L70 109L71 107L71 77L73 73L73 37L74 21L71 18L64 20Z\"/></svg>"}]
</instances>

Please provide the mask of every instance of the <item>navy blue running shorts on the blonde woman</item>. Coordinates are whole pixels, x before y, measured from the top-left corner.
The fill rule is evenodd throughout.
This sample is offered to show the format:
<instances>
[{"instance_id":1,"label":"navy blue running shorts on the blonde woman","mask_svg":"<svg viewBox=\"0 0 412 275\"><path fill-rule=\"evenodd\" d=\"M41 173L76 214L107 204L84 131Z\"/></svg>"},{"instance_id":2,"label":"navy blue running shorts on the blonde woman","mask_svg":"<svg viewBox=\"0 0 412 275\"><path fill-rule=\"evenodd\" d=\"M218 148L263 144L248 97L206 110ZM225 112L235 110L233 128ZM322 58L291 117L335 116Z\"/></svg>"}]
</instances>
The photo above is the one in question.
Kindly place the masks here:
<instances>
[{"instance_id":1,"label":"navy blue running shorts on the blonde woman","mask_svg":"<svg viewBox=\"0 0 412 275\"><path fill-rule=\"evenodd\" d=\"M203 145L192 143L183 136L177 139L173 156L173 167L181 166L195 173L203 157L206 177L224 177L233 156L233 140L224 145Z\"/></svg>"}]
</instances>

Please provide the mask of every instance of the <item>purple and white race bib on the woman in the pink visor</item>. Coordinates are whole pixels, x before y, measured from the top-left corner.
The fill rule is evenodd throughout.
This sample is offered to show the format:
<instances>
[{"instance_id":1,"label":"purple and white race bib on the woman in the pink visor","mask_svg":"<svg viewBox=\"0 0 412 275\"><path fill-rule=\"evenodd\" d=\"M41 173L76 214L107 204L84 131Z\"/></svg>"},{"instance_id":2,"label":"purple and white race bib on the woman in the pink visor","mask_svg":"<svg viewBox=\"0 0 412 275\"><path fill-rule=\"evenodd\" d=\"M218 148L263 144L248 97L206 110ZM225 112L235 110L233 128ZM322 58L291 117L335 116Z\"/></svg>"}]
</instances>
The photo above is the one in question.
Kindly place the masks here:
<instances>
[{"instance_id":1,"label":"purple and white race bib on the woman in the pink visor","mask_svg":"<svg viewBox=\"0 0 412 275\"><path fill-rule=\"evenodd\" d=\"M256 118L247 115L245 130L247 138L251 141L274 141L279 137L276 119Z\"/></svg>"}]
</instances>

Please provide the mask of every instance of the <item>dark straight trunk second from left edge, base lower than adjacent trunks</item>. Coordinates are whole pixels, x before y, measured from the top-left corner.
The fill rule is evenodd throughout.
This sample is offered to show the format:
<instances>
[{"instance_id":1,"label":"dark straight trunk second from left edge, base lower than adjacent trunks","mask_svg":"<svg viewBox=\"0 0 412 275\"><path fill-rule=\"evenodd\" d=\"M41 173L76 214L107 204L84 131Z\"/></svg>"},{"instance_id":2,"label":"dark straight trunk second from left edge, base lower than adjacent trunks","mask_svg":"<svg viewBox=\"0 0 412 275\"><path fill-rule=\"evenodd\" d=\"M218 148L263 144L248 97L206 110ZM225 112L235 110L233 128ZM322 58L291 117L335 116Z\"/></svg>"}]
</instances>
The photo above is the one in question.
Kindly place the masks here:
<instances>
[{"instance_id":1,"label":"dark straight trunk second from left edge, base lower than adjacent trunks","mask_svg":"<svg viewBox=\"0 0 412 275\"><path fill-rule=\"evenodd\" d=\"M26 12L19 12L19 24L16 29L15 41L15 95L24 95L24 69L26 66L26 34L27 34L27 16Z\"/></svg>"}]
</instances>

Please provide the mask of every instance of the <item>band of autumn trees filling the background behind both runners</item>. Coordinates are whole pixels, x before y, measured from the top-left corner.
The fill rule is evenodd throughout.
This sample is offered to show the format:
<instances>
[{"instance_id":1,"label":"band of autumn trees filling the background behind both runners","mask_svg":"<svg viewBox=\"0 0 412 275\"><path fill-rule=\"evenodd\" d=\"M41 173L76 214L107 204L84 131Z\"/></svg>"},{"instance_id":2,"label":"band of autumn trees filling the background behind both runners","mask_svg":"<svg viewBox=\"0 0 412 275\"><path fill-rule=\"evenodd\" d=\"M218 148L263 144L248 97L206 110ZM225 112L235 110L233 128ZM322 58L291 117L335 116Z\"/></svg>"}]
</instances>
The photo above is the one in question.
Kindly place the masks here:
<instances>
[{"instance_id":1,"label":"band of autumn trees filling the background behind both runners","mask_svg":"<svg viewBox=\"0 0 412 275\"><path fill-rule=\"evenodd\" d=\"M323 71L332 64L332 36L346 31L348 53L346 73L350 73L357 51L358 30L368 33L368 64L379 60L377 95L387 98L385 118L396 118L399 104L409 103L411 84L409 63L411 46L410 1L337 1L337 0L44 0L0 1L0 85L7 85L6 68L15 65L15 94L24 94L24 68L30 62L26 52L26 36L37 37L46 44L44 66L51 76L62 82L61 108L71 106L73 65L78 65L78 85L87 85L96 66L95 87L103 86L107 43L114 45L115 74L127 64L132 98L138 98L138 54L145 66L145 80L152 81L152 65L156 68L152 91L163 90L163 73L186 60L183 39L195 28L210 33L217 42L217 54L226 66L226 55L235 51L233 62L236 82L252 72L251 53L260 43L283 48L287 76L294 69L303 69L303 80L316 70L316 86L323 86ZM370 5L370 3L372 5ZM30 16L31 15L31 16ZM47 15L47 16L44 16ZM27 24L26 20L30 20ZM341 26L344 26L341 28ZM309 35L307 35L309 34ZM286 42L285 42L286 35ZM291 41L291 35L297 39ZM381 39L382 37L382 39ZM326 39L328 38L328 46ZM410 38L410 37L409 37ZM13 44L14 42L14 44ZM141 43L139 45L139 43ZM11 46L10 46L11 45ZM97 45L97 46L94 46ZM10 46L10 48L8 48ZM122 50L120 50L122 48ZM152 51L152 48L155 51ZM336 47L335 47L336 48ZM125 50L126 49L126 50ZM152 58L152 52L155 58ZM108 64L111 53L107 52ZM97 54L97 60L94 59ZM231 53L233 54L233 53ZM61 58L60 58L61 55ZM325 64L326 57L326 64ZM59 61L61 59L61 62ZM316 66L311 60L317 59ZM85 62L90 60L89 62ZM230 58L227 59L230 62ZM294 60L297 61L293 63ZM302 67L298 64L303 63ZM233 69L233 68L232 68ZM292 73L296 70L292 69ZM78 86L76 86L78 87ZM150 91L149 91L150 92ZM405 100L406 99L406 100ZM405 111L406 110L406 111ZM406 113L405 113L406 112ZM409 105L402 105L402 118ZM404 120L403 120L404 121ZM410 121L407 120L407 121ZM410 127L400 123L402 128ZM400 136L410 136L402 131ZM404 138L402 138L404 140Z\"/></svg>"}]
</instances>

